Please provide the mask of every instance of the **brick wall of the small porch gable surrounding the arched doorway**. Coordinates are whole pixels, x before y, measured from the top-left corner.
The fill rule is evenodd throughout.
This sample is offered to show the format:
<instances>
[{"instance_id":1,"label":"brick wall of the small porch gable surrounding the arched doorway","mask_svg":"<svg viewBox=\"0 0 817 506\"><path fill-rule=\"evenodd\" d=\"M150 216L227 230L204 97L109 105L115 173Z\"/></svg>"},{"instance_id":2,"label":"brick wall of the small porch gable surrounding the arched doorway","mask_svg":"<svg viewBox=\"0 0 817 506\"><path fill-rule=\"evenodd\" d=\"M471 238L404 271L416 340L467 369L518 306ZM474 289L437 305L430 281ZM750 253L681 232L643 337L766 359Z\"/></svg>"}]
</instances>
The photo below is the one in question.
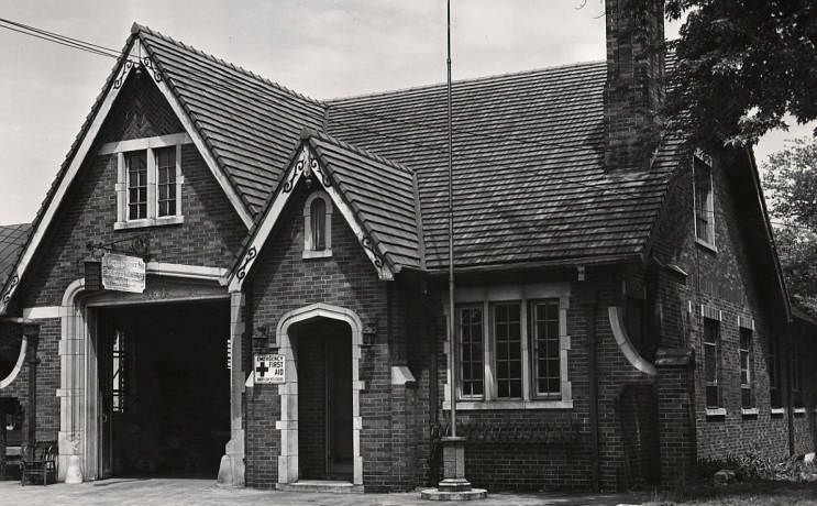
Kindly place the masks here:
<instances>
[{"instance_id":1,"label":"brick wall of the small porch gable surrounding the arched doorway","mask_svg":"<svg viewBox=\"0 0 817 506\"><path fill-rule=\"evenodd\" d=\"M402 290L408 288L400 279L377 278L340 212L332 213L332 256L302 258L307 196L305 186L295 189L245 284L251 300L249 328L267 323L275 328L287 311L314 302L350 309L364 326L376 328L375 343L364 348L360 359L360 378L365 382L360 394L363 482L367 491L410 488L416 470L411 463L406 466L404 459L413 460L412 431L421 424L411 413L415 394L390 384L393 363L405 363L409 354L408 319L402 315ZM256 331L254 337L258 336ZM268 344L252 339L252 352L267 352ZM280 416L277 385L255 386L247 394L246 411L246 483L272 487L280 453L280 432L275 430Z\"/></svg>"}]
</instances>

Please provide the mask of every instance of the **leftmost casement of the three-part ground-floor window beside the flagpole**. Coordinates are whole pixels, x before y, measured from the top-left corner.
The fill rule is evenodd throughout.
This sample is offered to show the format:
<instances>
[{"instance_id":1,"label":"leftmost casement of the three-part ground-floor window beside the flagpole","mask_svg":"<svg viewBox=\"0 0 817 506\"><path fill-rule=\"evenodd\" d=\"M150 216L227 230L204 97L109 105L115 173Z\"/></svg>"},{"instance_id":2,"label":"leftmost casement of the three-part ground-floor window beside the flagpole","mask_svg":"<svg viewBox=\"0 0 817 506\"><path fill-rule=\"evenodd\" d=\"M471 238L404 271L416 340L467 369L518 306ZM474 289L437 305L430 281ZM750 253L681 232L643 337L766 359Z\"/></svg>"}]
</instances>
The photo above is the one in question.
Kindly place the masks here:
<instances>
[{"instance_id":1,"label":"leftmost casement of the three-part ground-floor window beside the flagpole","mask_svg":"<svg viewBox=\"0 0 817 506\"><path fill-rule=\"evenodd\" d=\"M460 312L460 395L462 398L482 398L484 389L483 308L462 307Z\"/></svg>"}]
</instances>

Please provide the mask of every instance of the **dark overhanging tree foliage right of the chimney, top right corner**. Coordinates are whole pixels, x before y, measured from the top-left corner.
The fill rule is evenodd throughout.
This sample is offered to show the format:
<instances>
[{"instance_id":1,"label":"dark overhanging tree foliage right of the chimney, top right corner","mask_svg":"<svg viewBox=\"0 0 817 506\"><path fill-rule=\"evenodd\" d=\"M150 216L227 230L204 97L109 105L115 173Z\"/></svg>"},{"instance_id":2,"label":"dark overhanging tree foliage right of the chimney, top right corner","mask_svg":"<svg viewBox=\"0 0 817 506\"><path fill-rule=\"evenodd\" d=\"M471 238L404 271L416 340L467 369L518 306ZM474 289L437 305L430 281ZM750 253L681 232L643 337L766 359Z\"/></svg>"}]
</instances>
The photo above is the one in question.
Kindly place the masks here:
<instances>
[{"instance_id":1,"label":"dark overhanging tree foliage right of the chimney, top right corner","mask_svg":"<svg viewBox=\"0 0 817 506\"><path fill-rule=\"evenodd\" d=\"M665 114L704 144L750 145L817 119L815 0L666 0L686 15L675 44ZM817 135L817 131L815 132Z\"/></svg>"}]
</instances>

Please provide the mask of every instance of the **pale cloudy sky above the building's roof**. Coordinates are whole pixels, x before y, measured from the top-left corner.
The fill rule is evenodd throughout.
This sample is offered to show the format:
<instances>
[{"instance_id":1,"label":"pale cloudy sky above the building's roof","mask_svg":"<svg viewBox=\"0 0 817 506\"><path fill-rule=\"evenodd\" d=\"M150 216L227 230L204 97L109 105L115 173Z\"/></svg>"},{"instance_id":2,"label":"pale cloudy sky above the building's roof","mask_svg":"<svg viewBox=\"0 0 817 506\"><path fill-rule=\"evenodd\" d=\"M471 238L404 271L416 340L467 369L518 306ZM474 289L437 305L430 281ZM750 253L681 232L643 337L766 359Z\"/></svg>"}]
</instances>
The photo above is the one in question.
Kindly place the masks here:
<instances>
[{"instance_id":1,"label":"pale cloudy sky above the building's roof","mask_svg":"<svg viewBox=\"0 0 817 506\"><path fill-rule=\"evenodd\" d=\"M453 3L454 79L605 57L603 0ZM117 50L137 21L313 98L445 79L444 0L0 0L0 18ZM34 218L112 65L0 29L0 223Z\"/></svg>"}]
</instances>

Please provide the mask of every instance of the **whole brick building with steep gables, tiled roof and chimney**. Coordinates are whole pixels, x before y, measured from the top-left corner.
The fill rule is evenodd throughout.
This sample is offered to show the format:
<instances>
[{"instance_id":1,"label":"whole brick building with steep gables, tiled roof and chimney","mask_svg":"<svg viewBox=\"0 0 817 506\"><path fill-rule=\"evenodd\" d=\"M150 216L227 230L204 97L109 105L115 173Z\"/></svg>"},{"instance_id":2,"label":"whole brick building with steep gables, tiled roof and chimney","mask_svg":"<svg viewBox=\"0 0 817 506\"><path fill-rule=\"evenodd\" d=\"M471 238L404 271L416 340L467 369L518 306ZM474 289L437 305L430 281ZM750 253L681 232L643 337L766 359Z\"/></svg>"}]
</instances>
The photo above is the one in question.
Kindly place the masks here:
<instances>
[{"instance_id":1,"label":"whole brick building with steep gables, tiled roof and chimney","mask_svg":"<svg viewBox=\"0 0 817 506\"><path fill-rule=\"evenodd\" d=\"M34 322L63 476L409 490L452 402L494 490L812 451L815 326L753 156L656 134L662 2L631 3L606 2L607 62L454 84L453 309L444 86L313 100L134 25L35 221L0 233L0 397L30 422ZM143 292L89 277L118 251ZM256 382L271 354L283 383Z\"/></svg>"}]
</instances>

